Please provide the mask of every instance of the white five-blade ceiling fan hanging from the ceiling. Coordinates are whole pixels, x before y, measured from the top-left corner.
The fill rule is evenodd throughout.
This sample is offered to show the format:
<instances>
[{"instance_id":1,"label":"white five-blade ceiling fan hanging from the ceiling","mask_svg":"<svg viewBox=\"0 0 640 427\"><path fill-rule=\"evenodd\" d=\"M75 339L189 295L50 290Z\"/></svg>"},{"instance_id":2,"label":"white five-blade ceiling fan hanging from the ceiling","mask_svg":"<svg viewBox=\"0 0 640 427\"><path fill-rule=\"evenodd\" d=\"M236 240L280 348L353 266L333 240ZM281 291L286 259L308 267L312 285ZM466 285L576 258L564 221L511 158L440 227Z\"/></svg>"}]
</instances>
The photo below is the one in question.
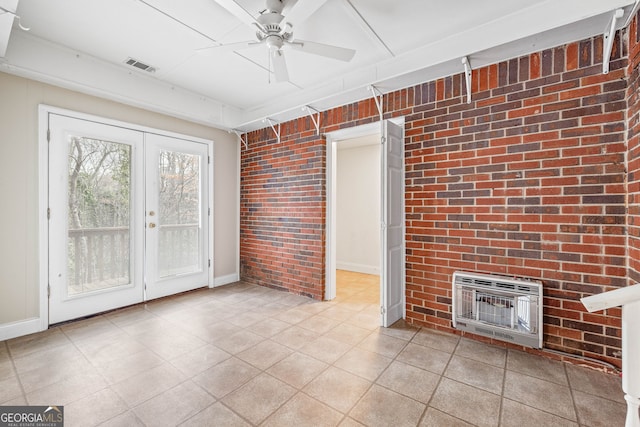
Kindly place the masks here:
<instances>
[{"instance_id":1,"label":"white five-blade ceiling fan hanging from the ceiling","mask_svg":"<svg viewBox=\"0 0 640 427\"><path fill-rule=\"evenodd\" d=\"M231 14L247 25L255 27L257 40L229 43L219 46L211 46L198 49L200 53L212 53L218 50L239 50L258 45L266 45L269 49L269 57L273 66L273 73L278 82L289 81L289 72L284 57L284 49L291 48L305 53L320 55L348 62L355 55L356 51L338 46L331 46L322 43L299 40L293 37L292 22L304 22L309 16L317 11L326 0L297 0L292 1L293 6L287 12L287 16L282 15L282 11L287 4L286 0L266 0L266 9L261 11L257 17L245 10L235 0L215 0Z\"/></svg>"}]
</instances>

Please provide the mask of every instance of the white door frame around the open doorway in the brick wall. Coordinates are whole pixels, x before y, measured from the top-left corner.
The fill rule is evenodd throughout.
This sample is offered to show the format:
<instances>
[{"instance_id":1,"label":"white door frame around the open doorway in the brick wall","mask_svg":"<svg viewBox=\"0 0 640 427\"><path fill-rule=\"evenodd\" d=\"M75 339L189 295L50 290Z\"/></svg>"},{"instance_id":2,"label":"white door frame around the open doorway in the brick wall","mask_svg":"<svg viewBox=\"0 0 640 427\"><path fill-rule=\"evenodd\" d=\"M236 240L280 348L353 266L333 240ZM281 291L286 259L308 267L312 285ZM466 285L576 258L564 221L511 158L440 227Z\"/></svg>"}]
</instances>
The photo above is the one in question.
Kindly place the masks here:
<instances>
[{"instance_id":1,"label":"white door frame around the open doorway in the brick wall","mask_svg":"<svg viewBox=\"0 0 640 427\"><path fill-rule=\"evenodd\" d=\"M390 121L404 126L404 117L390 119ZM369 135L382 136L382 123L374 122L361 126L340 129L327 133L327 211L326 211L326 248L325 248L325 300L336 297L336 198L337 198L337 144L345 139L359 138ZM382 167L382 165L380 166ZM381 183L380 183L381 185ZM381 248L384 250L385 248ZM405 285L402 284L402 294L405 297ZM404 304L403 304L404 306ZM403 308L403 318L406 317L406 307Z\"/></svg>"}]
</instances>

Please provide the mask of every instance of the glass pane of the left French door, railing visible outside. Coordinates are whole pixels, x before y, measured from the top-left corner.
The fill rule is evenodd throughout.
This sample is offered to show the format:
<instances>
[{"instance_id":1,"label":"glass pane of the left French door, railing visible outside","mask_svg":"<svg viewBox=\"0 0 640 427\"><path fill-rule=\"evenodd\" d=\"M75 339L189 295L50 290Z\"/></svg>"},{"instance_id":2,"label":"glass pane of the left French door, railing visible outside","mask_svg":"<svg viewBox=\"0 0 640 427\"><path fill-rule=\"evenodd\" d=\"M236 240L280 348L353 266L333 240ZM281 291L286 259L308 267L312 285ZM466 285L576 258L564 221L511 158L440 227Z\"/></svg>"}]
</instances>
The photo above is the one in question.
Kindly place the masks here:
<instances>
[{"instance_id":1,"label":"glass pane of the left French door, railing visible outside","mask_svg":"<svg viewBox=\"0 0 640 427\"><path fill-rule=\"evenodd\" d=\"M70 296L130 283L131 147L69 138Z\"/></svg>"}]
</instances>

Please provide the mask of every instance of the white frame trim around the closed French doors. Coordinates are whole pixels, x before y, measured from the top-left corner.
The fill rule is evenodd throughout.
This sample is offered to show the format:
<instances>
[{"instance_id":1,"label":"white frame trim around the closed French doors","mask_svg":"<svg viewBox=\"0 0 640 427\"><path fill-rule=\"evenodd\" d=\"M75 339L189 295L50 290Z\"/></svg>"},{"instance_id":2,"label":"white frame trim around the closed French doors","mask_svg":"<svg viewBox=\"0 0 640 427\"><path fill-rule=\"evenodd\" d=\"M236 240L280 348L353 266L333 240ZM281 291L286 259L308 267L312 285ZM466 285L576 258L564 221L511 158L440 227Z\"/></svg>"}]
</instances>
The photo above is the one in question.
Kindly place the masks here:
<instances>
[{"instance_id":1,"label":"white frame trim around the closed French doors","mask_svg":"<svg viewBox=\"0 0 640 427\"><path fill-rule=\"evenodd\" d=\"M164 131L160 129L154 129L147 126L141 126L133 123L122 122L119 120L107 119L104 117L94 116L85 113L79 113L77 111L66 110L63 108L52 107L49 105L40 104L38 106L38 276L39 276L39 326L40 330L44 331L49 328L49 220L48 220L48 203L49 203L49 144L48 144L48 129L49 129L49 115L57 114L61 116L68 116L80 120L94 121L110 126L124 127L131 130L136 130L144 133L154 133L158 135L164 135L172 138L185 139L189 141L199 142L208 146L209 161L208 161L208 174L209 174L209 212L211 215L208 217L210 221L209 225L209 259L210 266L207 275L208 286L214 287L214 226L213 226L213 189L214 189L214 143L212 140L198 138L189 135L183 135L175 132ZM144 262L141 260L140 262Z\"/></svg>"}]
</instances>

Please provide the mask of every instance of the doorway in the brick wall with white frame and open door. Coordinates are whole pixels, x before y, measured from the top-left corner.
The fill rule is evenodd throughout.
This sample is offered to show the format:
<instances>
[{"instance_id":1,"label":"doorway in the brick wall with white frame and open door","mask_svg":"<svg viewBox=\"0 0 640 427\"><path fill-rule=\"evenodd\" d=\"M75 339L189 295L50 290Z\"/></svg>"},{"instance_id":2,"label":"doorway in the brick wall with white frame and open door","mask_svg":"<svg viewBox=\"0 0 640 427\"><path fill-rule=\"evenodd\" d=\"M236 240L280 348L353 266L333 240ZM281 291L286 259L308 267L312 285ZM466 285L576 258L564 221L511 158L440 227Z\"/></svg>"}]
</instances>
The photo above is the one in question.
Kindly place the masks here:
<instances>
[{"instance_id":1,"label":"doorway in the brick wall with white frame and open door","mask_svg":"<svg viewBox=\"0 0 640 427\"><path fill-rule=\"evenodd\" d=\"M347 176L349 182L343 184L345 187L354 187L352 184L357 184L354 181L364 180L361 179L362 177L355 178L353 174L358 171L365 173L362 172L363 167L360 167L365 162L360 159L361 164L351 165L352 170L349 170L349 168L341 168L339 158L342 157L344 161L349 157L355 157L357 161L357 155L349 156L354 154L350 150L356 150L359 148L359 144L366 147L367 142L365 141L377 141L376 145L379 148L377 151L379 153L377 171L374 168L374 171L378 173L377 178L373 178L374 182L368 182L367 187L368 190L376 192L379 197L369 196L366 202L362 200L357 202L357 200L352 200L358 198L354 196L354 192L367 193L366 189L358 189L355 185L355 189L343 191L341 196L338 188L341 185L338 175L340 174L343 179L345 175ZM343 153L342 156L339 152ZM375 155L374 153L376 151L372 149L370 154ZM346 161L347 164L350 162L351 160ZM371 172L369 172L368 180L365 181L370 180ZM362 196L366 197L365 194ZM342 198L343 203L347 206L351 204L355 212L350 212L348 209L345 209L344 212L340 211L339 198ZM349 198L349 200L345 202L344 198ZM371 202L374 205L377 204L377 206L369 208L373 211L373 215L372 212L362 213L361 205L370 205ZM360 218L358 218L359 216ZM363 225L365 216L367 222L372 222L374 227L377 221L378 226L375 227L375 230L372 230L373 227ZM332 300L337 296L337 270L340 269L340 262L345 270L355 270L360 274L362 272L374 273L374 275L377 273L380 282L379 303L382 326L390 326L395 321L404 318L404 118L343 129L327 135L326 218L325 299ZM338 218L341 218L340 223ZM338 233L340 233L340 237L338 237ZM375 239L376 235L378 239ZM361 243L365 243L367 249L366 251L360 249L358 252ZM342 246L340 249L339 245ZM370 254L367 256L363 253L370 253L371 246L374 247L373 258L376 258L375 252L377 252L378 263L371 262Z\"/></svg>"}]
</instances>

